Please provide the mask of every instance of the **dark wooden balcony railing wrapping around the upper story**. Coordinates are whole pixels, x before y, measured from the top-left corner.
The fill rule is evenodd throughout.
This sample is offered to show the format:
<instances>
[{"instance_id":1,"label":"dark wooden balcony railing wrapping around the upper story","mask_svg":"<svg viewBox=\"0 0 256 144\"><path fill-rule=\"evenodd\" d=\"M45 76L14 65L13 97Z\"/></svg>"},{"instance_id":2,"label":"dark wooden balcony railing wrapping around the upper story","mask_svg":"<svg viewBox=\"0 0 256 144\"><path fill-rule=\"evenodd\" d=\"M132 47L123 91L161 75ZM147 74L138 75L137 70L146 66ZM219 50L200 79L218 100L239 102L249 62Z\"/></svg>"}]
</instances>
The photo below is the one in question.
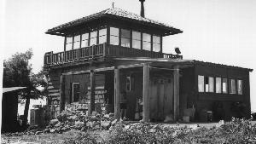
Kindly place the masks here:
<instances>
[{"instance_id":1,"label":"dark wooden balcony railing wrapping around the upper story","mask_svg":"<svg viewBox=\"0 0 256 144\"><path fill-rule=\"evenodd\" d=\"M89 60L96 57L121 56L121 57L150 57L150 58L169 58L183 59L182 55L164 54L144 49L131 49L118 45L106 43L93 45L81 49L72 49L60 53L48 52L44 55L44 66L60 65L62 63L78 60Z\"/></svg>"}]
</instances>

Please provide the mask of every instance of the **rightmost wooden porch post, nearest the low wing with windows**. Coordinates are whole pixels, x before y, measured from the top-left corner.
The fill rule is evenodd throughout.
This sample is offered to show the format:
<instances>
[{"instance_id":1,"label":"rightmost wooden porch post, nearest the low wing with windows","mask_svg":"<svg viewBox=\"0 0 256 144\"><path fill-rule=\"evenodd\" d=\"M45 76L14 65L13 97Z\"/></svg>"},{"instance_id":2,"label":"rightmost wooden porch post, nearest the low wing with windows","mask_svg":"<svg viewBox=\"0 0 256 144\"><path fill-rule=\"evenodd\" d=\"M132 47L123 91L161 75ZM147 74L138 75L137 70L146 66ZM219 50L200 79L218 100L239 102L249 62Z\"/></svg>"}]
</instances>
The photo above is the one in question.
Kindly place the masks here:
<instances>
[{"instance_id":1,"label":"rightmost wooden porch post, nearest the low wing with windows","mask_svg":"<svg viewBox=\"0 0 256 144\"><path fill-rule=\"evenodd\" d=\"M174 120L179 118L179 69L178 66L174 66L173 81L174 81Z\"/></svg>"}]
</instances>

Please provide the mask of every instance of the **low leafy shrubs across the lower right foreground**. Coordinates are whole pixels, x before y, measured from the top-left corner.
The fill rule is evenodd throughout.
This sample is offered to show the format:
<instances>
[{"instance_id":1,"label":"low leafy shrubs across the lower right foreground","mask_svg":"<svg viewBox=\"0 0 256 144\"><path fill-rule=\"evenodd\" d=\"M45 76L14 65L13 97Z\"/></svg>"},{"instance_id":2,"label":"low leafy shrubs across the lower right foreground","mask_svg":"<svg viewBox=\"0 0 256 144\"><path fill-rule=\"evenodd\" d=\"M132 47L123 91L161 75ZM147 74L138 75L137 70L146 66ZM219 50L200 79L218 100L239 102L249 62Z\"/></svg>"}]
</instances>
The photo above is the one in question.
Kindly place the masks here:
<instances>
[{"instance_id":1,"label":"low leafy shrubs across the lower right foreground","mask_svg":"<svg viewBox=\"0 0 256 144\"><path fill-rule=\"evenodd\" d=\"M170 127L161 124L125 124L109 130L108 143L256 143L256 126L245 119L232 118L216 128Z\"/></svg>"}]
</instances>

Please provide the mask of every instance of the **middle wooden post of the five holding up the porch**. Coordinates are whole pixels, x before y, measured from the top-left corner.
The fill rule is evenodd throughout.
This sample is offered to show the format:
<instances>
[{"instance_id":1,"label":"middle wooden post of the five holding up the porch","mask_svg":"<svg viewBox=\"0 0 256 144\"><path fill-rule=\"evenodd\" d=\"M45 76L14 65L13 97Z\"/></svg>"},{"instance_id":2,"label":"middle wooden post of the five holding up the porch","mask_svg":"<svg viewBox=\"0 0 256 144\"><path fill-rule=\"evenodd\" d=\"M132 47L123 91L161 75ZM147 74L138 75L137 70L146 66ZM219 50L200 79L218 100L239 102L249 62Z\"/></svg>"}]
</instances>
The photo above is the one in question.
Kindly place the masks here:
<instances>
[{"instance_id":1,"label":"middle wooden post of the five holding up the porch","mask_svg":"<svg viewBox=\"0 0 256 144\"><path fill-rule=\"evenodd\" d=\"M114 69L114 118L120 118L120 73Z\"/></svg>"}]
</instances>

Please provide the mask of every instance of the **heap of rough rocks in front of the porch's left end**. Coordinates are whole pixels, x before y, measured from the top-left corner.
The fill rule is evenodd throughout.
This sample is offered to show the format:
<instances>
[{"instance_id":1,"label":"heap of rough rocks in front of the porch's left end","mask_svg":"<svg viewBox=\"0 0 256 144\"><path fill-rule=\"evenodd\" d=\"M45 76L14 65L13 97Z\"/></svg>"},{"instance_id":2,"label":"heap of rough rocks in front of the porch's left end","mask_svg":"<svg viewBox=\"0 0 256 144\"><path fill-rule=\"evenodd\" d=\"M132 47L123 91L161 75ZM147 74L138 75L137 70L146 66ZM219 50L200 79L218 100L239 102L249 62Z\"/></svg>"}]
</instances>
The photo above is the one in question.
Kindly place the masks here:
<instances>
[{"instance_id":1,"label":"heap of rough rocks in front of the porch's left end","mask_svg":"<svg viewBox=\"0 0 256 144\"><path fill-rule=\"evenodd\" d=\"M61 133L68 130L108 130L115 124L113 113L101 114L92 112L91 115L81 111L66 110L61 112L56 119L52 119L44 132Z\"/></svg>"}]
</instances>

